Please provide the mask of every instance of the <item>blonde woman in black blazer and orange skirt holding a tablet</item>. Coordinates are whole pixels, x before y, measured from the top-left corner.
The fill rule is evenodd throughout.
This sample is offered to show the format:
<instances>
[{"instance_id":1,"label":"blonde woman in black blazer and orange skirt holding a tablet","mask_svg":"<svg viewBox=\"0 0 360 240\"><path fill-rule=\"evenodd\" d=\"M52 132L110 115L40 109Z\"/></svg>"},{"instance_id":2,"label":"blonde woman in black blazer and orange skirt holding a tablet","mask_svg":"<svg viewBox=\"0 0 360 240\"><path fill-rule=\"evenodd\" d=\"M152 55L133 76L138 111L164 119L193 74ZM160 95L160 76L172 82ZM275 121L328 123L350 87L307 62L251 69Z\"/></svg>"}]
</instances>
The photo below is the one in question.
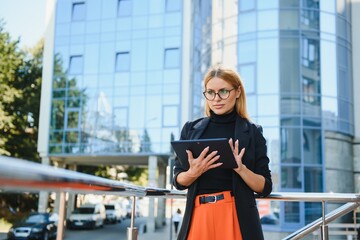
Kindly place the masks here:
<instances>
[{"instance_id":1,"label":"blonde woman in black blazer and orange skirt holding a tablet","mask_svg":"<svg viewBox=\"0 0 360 240\"><path fill-rule=\"evenodd\" d=\"M249 120L243 83L224 66L204 77L207 117L187 122L181 139L228 138L238 167L221 168L216 151L205 148L189 168L175 160L173 184L187 189L186 208L178 240L264 239L254 192L272 191L266 141L262 128ZM213 204L211 204L213 203Z\"/></svg>"}]
</instances>

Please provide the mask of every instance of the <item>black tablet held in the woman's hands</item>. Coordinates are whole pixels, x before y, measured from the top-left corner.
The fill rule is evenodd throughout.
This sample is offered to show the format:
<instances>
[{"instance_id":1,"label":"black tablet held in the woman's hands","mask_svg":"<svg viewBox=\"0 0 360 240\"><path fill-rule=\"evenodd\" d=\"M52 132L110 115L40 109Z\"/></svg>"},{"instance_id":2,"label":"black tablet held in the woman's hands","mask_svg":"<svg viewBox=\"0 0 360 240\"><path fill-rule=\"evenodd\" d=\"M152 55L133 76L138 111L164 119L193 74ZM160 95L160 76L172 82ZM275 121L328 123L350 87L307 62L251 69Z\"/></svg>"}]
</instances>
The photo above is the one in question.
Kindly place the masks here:
<instances>
[{"instance_id":1,"label":"black tablet held in the woman's hands","mask_svg":"<svg viewBox=\"0 0 360 240\"><path fill-rule=\"evenodd\" d=\"M186 150L190 150L194 158L197 158L202 150L208 146L210 148L208 153L216 150L218 151L220 158L218 161L216 161L216 163L223 163L221 166L219 166L220 168L237 168L237 163L229 145L229 139L227 138L177 140L171 141L171 146L173 147L181 164L186 169L189 168Z\"/></svg>"}]
</instances>

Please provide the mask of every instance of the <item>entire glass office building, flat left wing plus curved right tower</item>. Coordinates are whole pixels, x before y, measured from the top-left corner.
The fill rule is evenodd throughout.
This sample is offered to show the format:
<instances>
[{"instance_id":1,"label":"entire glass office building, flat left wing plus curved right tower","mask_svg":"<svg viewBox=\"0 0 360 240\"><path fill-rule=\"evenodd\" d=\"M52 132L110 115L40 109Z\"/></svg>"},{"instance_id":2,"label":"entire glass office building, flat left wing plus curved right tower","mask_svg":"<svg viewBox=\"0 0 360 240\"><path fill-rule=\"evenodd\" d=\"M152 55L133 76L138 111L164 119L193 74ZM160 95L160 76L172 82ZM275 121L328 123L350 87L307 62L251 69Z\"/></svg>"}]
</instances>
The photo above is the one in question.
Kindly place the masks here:
<instances>
[{"instance_id":1,"label":"entire glass office building, flat left wing plus curved right tower","mask_svg":"<svg viewBox=\"0 0 360 240\"><path fill-rule=\"evenodd\" d=\"M223 63L239 70L263 126L274 191L354 191L349 1L55 2L43 156L170 156L184 121L203 116L202 76ZM272 202L264 213L277 218L264 229L292 230L321 204Z\"/></svg>"}]
</instances>

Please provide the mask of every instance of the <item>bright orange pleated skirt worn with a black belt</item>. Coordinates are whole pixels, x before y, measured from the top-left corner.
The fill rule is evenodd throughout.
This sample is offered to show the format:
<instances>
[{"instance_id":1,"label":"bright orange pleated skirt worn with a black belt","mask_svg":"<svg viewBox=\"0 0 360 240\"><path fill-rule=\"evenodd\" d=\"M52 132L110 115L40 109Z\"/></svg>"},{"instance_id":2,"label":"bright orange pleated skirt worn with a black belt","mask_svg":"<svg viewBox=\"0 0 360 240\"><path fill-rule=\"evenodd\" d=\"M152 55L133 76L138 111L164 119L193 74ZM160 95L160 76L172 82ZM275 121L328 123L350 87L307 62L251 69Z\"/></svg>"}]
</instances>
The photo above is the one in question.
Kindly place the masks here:
<instances>
[{"instance_id":1,"label":"bright orange pleated skirt worn with a black belt","mask_svg":"<svg viewBox=\"0 0 360 240\"><path fill-rule=\"evenodd\" d=\"M242 240L234 197L230 191L196 196L187 240L224 239Z\"/></svg>"}]
</instances>

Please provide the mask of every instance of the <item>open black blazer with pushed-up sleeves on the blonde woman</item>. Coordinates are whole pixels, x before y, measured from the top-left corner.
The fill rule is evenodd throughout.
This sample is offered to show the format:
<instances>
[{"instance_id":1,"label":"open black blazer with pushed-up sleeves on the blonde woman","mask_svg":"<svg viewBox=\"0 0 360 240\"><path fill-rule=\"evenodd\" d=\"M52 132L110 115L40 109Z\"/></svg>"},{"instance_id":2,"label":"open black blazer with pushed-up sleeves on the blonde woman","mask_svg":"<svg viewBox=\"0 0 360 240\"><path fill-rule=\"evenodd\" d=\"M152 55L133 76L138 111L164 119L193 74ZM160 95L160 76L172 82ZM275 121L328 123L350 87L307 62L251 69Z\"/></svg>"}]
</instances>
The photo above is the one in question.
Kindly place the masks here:
<instances>
[{"instance_id":1,"label":"open black blazer with pushed-up sleeves on the blonde woman","mask_svg":"<svg viewBox=\"0 0 360 240\"><path fill-rule=\"evenodd\" d=\"M210 119L200 118L187 122L182 131L180 139L198 139L209 124ZM265 186L262 192L257 193L266 197L272 191L272 180L269 169L269 158L267 156L266 140L262 134L262 128L248 120L237 116L235 124L235 140L239 140L239 149L245 148L243 164L254 173L265 177ZM173 185L178 190L188 189L186 209L179 231L178 240L186 240L190 229L191 216L194 209L197 181L190 186L182 186L176 181L179 173L186 171L178 159L175 160ZM255 194L234 171L233 193L235 196L236 212L240 224L241 234L244 240L264 239L256 206Z\"/></svg>"}]
</instances>

